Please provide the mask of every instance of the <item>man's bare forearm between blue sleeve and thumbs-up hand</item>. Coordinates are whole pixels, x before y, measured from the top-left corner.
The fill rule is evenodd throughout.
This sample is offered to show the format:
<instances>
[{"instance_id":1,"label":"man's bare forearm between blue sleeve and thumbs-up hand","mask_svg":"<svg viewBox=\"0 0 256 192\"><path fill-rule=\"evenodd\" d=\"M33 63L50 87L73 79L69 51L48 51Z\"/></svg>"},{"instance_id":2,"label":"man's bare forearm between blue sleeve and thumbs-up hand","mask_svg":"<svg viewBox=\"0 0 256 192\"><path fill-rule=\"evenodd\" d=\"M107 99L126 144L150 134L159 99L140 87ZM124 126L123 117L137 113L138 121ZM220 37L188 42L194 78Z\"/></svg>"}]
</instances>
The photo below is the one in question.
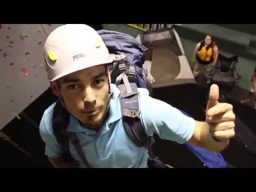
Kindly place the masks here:
<instances>
[{"instance_id":1,"label":"man's bare forearm between blue sleeve and thumbs-up hand","mask_svg":"<svg viewBox=\"0 0 256 192\"><path fill-rule=\"evenodd\" d=\"M202 122L202 123L203 124L202 124L202 129L200 134L201 146L207 150L214 151L214 152L219 152L225 149L228 146L229 142L214 141L209 130L209 125L206 122Z\"/></svg>"}]
</instances>

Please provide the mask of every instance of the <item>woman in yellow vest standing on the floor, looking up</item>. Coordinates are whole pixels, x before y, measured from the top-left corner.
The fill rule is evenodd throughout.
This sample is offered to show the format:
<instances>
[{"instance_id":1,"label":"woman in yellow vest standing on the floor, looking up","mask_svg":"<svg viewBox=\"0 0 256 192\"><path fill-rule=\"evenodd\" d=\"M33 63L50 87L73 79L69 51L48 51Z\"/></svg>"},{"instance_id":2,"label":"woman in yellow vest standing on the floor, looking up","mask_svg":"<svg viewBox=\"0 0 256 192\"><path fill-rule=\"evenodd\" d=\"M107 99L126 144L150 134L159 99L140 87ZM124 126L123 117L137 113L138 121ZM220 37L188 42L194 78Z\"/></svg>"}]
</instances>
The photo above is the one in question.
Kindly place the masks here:
<instances>
[{"instance_id":1,"label":"woman in yellow vest standing on the floor, looking up","mask_svg":"<svg viewBox=\"0 0 256 192\"><path fill-rule=\"evenodd\" d=\"M212 35L206 35L206 37L201 42L197 43L194 51L194 76L197 77L201 69L204 67L206 70L205 77L207 78L207 82L210 81L209 76L211 68L215 66L218 60L218 55L218 46L213 41Z\"/></svg>"}]
</instances>

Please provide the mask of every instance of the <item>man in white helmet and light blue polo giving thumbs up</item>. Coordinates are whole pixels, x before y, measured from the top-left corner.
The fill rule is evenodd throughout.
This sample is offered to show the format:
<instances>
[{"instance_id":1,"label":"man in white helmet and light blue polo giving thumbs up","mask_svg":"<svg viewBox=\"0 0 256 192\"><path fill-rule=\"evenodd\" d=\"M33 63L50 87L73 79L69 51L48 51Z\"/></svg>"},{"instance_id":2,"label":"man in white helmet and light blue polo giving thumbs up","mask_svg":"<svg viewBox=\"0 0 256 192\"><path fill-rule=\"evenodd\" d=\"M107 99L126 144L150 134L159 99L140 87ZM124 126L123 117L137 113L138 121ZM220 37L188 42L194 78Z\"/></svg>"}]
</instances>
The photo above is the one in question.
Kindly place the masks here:
<instances>
[{"instance_id":1,"label":"man in white helmet and light blue polo giving thumbs up","mask_svg":"<svg viewBox=\"0 0 256 192\"><path fill-rule=\"evenodd\" d=\"M56 103L46 109L40 124L51 164L86 167L71 143L73 161L67 161L55 138L52 122L68 117L67 131L76 134L90 167L147 167L147 149L137 147L124 130L120 92L110 84L108 64L113 60L97 31L86 25L61 26L47 37L44 55L51 89L62 103L60 109ZM233 107L218 102L217 85L210 90L206 122L195 121L149 97L146 89L138 92L140 118L148 135L156 133L163 139L212 151L224 149L234 137ZM57 118L54 110L61 110L62 116Z\"/></svg>"}]
</instances>

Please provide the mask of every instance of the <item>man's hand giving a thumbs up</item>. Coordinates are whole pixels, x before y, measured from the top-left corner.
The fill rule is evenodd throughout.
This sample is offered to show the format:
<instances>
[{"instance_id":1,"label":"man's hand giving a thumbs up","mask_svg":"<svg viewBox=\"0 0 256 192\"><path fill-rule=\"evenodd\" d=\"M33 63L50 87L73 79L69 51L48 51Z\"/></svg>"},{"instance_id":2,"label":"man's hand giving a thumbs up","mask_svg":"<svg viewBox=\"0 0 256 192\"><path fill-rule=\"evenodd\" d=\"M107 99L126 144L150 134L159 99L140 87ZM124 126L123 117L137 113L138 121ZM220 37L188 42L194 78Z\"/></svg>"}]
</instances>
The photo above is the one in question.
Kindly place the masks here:
<instances>
[{"instance_id":1,"label":"man's hand giving a thumbs up","mask_svg":"<svg viewBox=\"0 0 256 192\"><path fill-rule=\"evenodd\" d=\"M228 141L235 136L235 114L229 103L219 103L219 87L213 84L206 108L206 123L214 140Z\"/></svg>"}]
</instances>

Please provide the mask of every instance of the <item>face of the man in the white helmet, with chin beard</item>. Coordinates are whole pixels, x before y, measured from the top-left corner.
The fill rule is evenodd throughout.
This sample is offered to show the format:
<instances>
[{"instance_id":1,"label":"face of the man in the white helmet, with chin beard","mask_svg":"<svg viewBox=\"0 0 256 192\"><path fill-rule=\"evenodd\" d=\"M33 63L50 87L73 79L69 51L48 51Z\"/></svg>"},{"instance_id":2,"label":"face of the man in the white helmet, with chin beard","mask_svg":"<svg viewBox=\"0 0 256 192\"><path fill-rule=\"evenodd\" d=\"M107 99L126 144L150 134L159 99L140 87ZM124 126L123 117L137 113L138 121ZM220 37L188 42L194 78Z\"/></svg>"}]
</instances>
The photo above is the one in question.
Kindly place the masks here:
<instances>
[{"instance_id":1,"label":"face of the man in the white helmet, with chin beard","mask_svg":"<svg viewBox=\"0 0 256 192\"><path fill-rule=\"evenodd\" d=\"M90 128L99 127L107 114L108 80L104 65L60 78L60 92L73 116Z\"/></svg>"}]
</instances>

